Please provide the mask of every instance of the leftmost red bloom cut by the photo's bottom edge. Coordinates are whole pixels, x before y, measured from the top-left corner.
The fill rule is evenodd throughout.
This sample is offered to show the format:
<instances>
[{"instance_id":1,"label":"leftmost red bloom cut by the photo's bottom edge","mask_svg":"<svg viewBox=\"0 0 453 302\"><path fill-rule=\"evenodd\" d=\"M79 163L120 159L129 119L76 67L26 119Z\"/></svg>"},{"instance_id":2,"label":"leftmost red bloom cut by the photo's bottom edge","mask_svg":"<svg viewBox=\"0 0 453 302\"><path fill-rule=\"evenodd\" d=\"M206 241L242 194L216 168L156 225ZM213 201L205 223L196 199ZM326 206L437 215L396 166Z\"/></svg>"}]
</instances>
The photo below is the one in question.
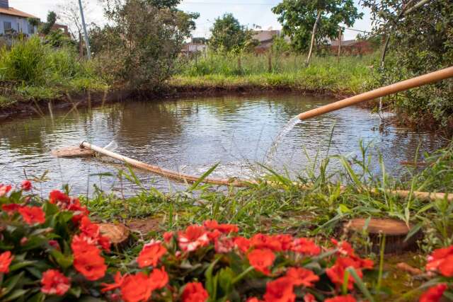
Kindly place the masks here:
<instances>
[{"instance_id":1,"label":"leftmost red bloom cut by the photo's bottom edge","mask_svg":"<svg viewBox=\"0 0 453 302\"><path fill-rule=\"evenodd\" d=\"M121 284L121 296L126 302L148 301L152 292L153 288L144 272L126 276Z\"/></svg>"}]
</instances>

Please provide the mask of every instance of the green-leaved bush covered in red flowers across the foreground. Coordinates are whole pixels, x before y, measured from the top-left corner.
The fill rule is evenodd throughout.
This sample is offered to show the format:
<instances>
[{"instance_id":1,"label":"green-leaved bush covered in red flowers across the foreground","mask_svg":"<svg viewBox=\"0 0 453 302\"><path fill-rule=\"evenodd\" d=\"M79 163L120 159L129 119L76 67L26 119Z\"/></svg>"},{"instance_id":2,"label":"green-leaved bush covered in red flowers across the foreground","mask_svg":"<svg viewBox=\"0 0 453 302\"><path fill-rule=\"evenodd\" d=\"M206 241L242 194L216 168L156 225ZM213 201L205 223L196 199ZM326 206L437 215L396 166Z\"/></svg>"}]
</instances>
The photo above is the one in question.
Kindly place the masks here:
<instances>
[{"instance_id":1,"label":"green-leaved bush covered in red flowers across the foreground","mask_svg":"<svg viewBox=\"0 0 453 302\"><path fill-rule=\"evenodd\" d=\"M321 248L289 235L236 235L205 221L151 240L136 260L110 252L78 199L52 191L47 201L0 185L1 301L355 301L373 262L346 242Z\"/></svg>"}]
</instances>

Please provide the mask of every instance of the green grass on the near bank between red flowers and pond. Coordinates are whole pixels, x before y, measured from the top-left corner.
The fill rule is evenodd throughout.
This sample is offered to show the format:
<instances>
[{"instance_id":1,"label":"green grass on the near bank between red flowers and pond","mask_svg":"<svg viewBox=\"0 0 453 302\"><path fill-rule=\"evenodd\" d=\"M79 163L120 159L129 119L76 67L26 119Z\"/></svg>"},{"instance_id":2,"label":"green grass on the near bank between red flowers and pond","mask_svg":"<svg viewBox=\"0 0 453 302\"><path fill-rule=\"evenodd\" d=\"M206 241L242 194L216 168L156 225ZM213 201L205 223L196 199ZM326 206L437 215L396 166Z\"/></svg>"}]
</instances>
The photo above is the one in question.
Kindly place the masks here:
<instances>
[{"instance_id":1,"label":"green grass on the near bank between red flowers and pond","mask_svg":"<svg viewBox=\"0 0 453 302\"><path fill-rule=\"evenodd\" d=\"M401 199L387 190L451 192L453 186L440 183L439 179L451 181L453 178L450 164L453 146L427 154L428 168L408 168L403 181L385 173L372 175L369 158L365 156L367 146L362 146L362 151L362 158L333 156L323 159L319 170L304 171L298 181L311 184L308 190L300 190L299 185L294 185L284 175L270 173L265 180L275 182L275 186L261 182L248 188L230 187L227 192L222 192L211 185L201 185L174 194L142 187L135 197L129 199L97 191L93 199L84 199L84 202L98 219L125 222L154 219L159 222L156 231L217 219L239 224L245 234L266 231L328 238L348 219L386 217L423 228L426 236L420 241L420 246L425 252L452 244L451 203L447 200L425 202L413 197ZM340 159L343 168L328 174L326 168L333 158ZM121 174L128 174L127 178L136 180L132 170L125 173L122 171ZM345 186L343 190L341 185ZM372 189L377 192L372 193Z\"/></svg>"}]
</instances>

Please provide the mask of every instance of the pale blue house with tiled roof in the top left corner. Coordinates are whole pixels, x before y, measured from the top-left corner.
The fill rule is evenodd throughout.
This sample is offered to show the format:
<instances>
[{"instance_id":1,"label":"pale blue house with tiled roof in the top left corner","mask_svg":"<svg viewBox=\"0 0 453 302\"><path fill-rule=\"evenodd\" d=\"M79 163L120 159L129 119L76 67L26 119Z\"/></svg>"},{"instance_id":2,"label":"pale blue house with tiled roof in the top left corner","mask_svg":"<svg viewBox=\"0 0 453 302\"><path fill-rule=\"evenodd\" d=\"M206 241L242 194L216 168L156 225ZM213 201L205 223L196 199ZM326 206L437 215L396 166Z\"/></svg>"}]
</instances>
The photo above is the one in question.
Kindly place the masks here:
<instances>
[{"instance_id":1,"label":"pale blue house with tiled roof in the top left corner","mask_svg":"<svg viewBox=\"0 0 453 302\"><path fill-rule=\"evenodd\" d=\"M28 21L30 18L38 17L24 13L9 6L8 0L0 0L0 35L23 33L33 35L37 33L38 27Z\"/></svg>"}]
</instances>

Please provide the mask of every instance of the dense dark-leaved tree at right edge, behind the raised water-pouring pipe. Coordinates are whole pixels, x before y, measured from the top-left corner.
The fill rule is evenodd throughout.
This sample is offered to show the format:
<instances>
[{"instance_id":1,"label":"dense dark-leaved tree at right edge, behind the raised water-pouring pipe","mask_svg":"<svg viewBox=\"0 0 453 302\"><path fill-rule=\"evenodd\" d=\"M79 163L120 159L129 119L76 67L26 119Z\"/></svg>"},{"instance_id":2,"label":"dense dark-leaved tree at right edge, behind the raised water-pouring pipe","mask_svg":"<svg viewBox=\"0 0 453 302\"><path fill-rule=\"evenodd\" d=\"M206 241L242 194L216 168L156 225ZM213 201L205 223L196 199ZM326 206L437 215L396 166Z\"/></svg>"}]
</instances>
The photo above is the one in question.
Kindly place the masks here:
<instances>
[{"instance_id":1,"label":"dense dark-leaved tree at right edge, behind the raised water-pouring pipe","mask_svg":"<svg viewBox=\"0 0 453 302\"><path fill-rule=\"evenodd\" d=\"M374 33L387 37L389 55L377 70L377 85L453 65L453 2L365 0ZM420 117L453 128L453 81L398 93L397 107L419 124Z\"/></svg>"}]
</instances>

